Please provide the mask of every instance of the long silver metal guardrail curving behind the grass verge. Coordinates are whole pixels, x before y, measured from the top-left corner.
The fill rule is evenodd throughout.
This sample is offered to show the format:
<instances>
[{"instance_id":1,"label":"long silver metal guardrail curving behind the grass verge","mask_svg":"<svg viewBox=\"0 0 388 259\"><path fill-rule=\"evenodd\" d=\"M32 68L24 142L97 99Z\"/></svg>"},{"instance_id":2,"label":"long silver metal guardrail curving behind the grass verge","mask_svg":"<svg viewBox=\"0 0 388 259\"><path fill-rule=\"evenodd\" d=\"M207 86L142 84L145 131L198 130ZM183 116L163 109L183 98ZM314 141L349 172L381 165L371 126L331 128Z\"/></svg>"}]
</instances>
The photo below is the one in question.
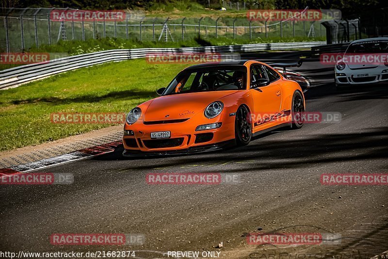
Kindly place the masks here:
<instances>
[{"instance_id":1,"label":"long silver metal guardrail curving behind the grass verge","mask_svg":"<svg viewBox=\"0 0 388 259\"><path fill-rule=\"evenodd\" d=\"M157 48L157 49L113 49L50 60L46 63L21 65L0 71L0 89L16 87L21 84L40 80L52 75L81 67L106 62L145 58L147 54L167 53L211 53L211 52L249 52L261 50L306 49L323 45L326 42L286 42L247 45L209 46L196 48Z\"/></svg>"}]
</instances>

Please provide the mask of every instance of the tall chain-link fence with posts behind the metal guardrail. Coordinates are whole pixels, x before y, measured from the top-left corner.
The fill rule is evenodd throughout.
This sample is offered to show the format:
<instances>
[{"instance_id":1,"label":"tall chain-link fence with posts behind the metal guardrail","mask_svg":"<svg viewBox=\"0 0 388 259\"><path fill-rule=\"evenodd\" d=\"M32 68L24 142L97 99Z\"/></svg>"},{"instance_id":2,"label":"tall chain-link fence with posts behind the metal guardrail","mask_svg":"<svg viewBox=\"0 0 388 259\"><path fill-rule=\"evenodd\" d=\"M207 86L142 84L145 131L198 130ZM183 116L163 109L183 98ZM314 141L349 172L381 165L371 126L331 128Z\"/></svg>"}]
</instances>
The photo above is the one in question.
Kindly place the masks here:
<instances>
[{"instance_id":1,"label":"tall chain-link fence with posts behind the metal guardrail","mask_svg":"<svg viewBox=\"0 0 388 259\"><path fill-rule=\"evenodd\" d=\"M25 8L3 9L0 14L0 51L28 50L32 46L56 44L60 40L87 40L105 37L139 41L190 41L194 38L295 38L325 37L320 21L254 21L230 17L147 17L125 12L120 19L58 19L55 10ZM75 10L77 11L77 10ZM81 12L81 11L77 11Z\"/></svg>"}]
</instances>

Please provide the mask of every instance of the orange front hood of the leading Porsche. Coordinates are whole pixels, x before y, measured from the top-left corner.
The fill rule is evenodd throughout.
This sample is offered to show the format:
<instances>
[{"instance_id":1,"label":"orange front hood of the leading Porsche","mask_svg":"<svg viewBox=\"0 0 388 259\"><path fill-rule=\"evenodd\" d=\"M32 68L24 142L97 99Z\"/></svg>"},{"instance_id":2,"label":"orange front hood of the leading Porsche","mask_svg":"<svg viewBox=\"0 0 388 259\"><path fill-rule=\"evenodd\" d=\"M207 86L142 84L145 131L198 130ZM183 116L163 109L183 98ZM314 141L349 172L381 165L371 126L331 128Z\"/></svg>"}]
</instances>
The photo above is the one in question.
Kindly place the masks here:
<instances>
[{"instance_id":1,"label":"orange front hood of the leading Porsche","mask_svg":"<svg viewBox=\"0 0 388 259\"><path fill-rule=\"evenodd\" d=\"M202 113L213 101L236 93L238 90L173 94L152 100L144 114L144 121L176 120Z\"/></svg>"}]
</instances>

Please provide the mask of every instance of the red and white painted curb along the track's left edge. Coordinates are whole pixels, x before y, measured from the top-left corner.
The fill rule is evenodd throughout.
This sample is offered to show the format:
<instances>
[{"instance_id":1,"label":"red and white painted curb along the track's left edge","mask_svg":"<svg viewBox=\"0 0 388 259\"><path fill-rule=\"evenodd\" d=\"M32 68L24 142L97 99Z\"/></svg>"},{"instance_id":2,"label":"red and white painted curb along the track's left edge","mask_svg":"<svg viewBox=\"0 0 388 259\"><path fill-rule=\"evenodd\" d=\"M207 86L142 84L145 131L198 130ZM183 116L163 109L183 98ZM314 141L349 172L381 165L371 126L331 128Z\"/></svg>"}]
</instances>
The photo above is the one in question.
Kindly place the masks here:
<instances>
[{"instance_id":1,"label":"red and white painted curb along the track's left edge","mask_svg":"<svg viewBox=\"0 0 388 259\"><path fill-rule=\"evenodd\" d=\"M122 144L122 141L118 140L118 141L113 141L113 142L98 145L98 146L83 148L83 149L76 150L56 157L46 158L35 162L14 165L14 166L11 166L10 168L1 168L0 178L7 177L10 175L16 175L20 173L26 173L37 169L43 169L43 168L64 164L68 162L74 162L77 160L91 158L94 156L103 155L106 153L113 152L114 148L116 148L121 144Z\"/></svg>"}]
</instances>

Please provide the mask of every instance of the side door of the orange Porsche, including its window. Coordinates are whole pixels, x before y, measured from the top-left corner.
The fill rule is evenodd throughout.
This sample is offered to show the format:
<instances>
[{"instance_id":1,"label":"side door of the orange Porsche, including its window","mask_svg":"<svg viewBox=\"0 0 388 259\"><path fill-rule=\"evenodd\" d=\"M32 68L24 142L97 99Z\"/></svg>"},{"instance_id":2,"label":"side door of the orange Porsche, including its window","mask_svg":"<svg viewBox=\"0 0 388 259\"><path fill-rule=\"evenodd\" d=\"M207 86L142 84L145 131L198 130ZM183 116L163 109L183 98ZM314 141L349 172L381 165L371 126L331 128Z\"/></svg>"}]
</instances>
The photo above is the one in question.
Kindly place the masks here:
<instances>
[{"instance_id":1,"label":"side door of the orange Porsche, including its window","mask_svg":"<svg viewBox=\"0 0 388 259\"><path fill-rule=\"evenodd\" d=\"M253 82L259 79L266 79L270 81L270 84L265 86L253 85ZM259 130L274 126L276 123L276 114L279 113L282 99L278 80L275 80L272 75L269 75L266 66L256 64L250 67L250 82L250 92L254 104L254 128Z\"/></svg>"}]
</instances>

